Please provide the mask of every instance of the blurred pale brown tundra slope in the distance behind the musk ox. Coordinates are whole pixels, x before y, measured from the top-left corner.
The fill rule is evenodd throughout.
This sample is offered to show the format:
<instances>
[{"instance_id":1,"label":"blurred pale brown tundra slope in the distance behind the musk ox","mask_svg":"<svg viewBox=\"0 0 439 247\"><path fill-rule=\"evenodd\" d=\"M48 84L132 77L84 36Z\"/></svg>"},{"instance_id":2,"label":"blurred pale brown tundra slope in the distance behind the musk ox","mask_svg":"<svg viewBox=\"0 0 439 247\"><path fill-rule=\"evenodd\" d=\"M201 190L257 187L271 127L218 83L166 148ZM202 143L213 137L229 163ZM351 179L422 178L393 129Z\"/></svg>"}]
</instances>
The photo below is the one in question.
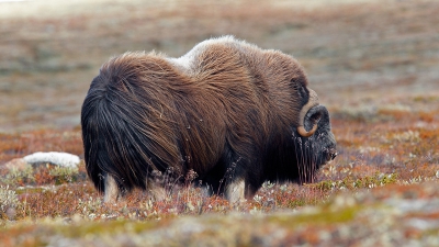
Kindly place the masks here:
<instances>
[{"instance_id":1,"label":"blurred pale brown tundra slope in the distance behind the musk ox","mask_svg":"<svg viewBox=\"0 0 439 247\"><path fill-rule=\"evenodd\" d=\"M226 34L293 55L333 117L439 103L439 1L0 1L0 132L77 128L110 57Z\"/></svg>"}]
</instances>

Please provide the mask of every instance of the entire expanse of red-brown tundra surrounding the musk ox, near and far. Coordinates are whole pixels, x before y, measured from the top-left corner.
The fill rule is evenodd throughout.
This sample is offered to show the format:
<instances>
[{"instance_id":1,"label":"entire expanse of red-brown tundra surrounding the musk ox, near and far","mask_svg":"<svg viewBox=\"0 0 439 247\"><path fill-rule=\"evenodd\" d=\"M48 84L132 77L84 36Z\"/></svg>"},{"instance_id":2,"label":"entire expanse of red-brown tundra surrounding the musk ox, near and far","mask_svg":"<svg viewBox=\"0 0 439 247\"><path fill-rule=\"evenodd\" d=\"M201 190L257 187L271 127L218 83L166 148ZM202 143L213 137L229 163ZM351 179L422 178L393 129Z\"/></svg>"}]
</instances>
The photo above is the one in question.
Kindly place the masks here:
<instances>
[{"instance_id":1,"label":"entire expanse of red-brown tundra surrounding the musk ox, near and far","mask_svg":"<svg viewBox=\"0 0 439 247\"><path fill-rule=\"evenodd\" d=\"M309 2L0 3L0 245L384 245L381 237L434 245L439 226L426 218L439 215L439 4ZM25 10L2 14L5 4ZM239 206L196 184L160 202L134 191L102 205L83 164L4 168L34 151L83 157L80 104L110 56L180 56L222 34L292 53L305 66L331 113L339 153L315 183L266 183Z\"/></svg>"}]
</instances>

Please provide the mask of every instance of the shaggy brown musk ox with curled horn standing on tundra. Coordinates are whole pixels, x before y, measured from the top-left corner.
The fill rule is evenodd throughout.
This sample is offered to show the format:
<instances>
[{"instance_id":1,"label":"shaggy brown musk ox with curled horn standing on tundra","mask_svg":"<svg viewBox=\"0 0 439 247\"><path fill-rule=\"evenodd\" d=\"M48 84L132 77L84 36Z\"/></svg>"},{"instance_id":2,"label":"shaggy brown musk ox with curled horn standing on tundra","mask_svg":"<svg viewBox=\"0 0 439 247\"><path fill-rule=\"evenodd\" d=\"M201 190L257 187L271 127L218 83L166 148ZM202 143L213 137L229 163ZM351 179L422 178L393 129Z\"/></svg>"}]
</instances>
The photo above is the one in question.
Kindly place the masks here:
<instances>
[{"instance_id":1,"label":"shaggy brown musk ox with curled horn standing on tundra","mask_svg":"<svg viewBox=\"0 0 439 247\"><path fill-rule=\"evenodd\" d=\"M264 181L309 182L336 156L329 114L302 66L233 36L180 58L125 53L102 65L81 111L87 172L105 202L157 175L230 202Z\"/></svg>"}]
</instances>

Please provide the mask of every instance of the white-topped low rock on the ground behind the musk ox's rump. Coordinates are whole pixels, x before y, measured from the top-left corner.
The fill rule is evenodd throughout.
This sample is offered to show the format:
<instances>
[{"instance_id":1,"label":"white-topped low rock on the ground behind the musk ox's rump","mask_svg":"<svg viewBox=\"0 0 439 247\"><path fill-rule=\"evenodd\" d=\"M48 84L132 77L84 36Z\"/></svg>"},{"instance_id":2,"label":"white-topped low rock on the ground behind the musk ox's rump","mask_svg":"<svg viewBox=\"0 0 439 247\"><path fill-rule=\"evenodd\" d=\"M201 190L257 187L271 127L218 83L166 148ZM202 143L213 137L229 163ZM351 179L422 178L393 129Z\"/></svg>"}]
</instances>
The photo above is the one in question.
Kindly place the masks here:
<instances>
[{"instance_id":1,"label":"white-topped low rock on the ground behind the musk ox's rump","mask_svg":"<svg viewBox=\"0 0 439 247\"><path fill-rule=\"evenodd\" d=\"M76 155L58 151L38 151L24 156L23 159L29 164L49 162L60 167L77 167L80 161L79 157Z\"/></svg>"}]
</instances>

